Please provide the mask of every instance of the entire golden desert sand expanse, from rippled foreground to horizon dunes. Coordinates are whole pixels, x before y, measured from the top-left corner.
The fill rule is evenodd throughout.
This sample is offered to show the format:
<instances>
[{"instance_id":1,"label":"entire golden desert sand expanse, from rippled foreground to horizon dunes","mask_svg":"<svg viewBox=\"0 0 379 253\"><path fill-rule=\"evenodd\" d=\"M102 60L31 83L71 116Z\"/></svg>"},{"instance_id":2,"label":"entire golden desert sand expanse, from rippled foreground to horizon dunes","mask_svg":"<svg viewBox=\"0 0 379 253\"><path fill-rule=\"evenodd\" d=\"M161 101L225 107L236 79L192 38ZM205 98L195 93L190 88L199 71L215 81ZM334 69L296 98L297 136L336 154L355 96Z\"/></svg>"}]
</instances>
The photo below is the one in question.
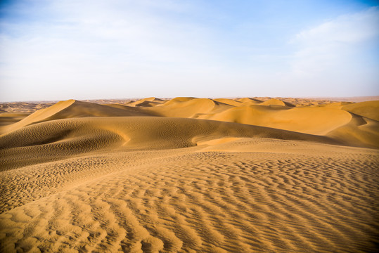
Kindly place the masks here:
<instances>
[{"instance_id":1,"label":"entire golden desert sand expanse, from rippled foreground to horizon dunes","mask_svg":"<svg viewBox=\"0 0 379 253\"><path fill-rule=\"evenodd\" d=\"M379 100L3 103L0 252L378 252Z\"/></svg>"}]
</instances>

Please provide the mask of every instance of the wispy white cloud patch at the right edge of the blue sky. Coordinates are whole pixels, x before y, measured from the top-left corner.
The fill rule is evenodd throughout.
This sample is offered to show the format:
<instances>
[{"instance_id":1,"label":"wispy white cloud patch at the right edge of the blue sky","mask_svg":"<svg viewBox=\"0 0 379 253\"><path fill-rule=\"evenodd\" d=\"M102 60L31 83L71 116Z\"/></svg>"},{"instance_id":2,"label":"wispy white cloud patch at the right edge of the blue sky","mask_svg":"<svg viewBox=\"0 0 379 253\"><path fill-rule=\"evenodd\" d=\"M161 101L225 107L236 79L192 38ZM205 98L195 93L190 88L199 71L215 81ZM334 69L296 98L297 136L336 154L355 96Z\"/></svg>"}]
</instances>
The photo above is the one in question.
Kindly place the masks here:
<instances>
[{"instance_id":1,"label":"wispy white cloud patch at the right edge of the blue sky","mask_svg":"<svg viewBox=\"0 0 379 253\"><path fill-rule=\"evenodd\" d=\"M328 20L296 34L291 41L297 47L292 70L309 77L329 68L338 70L347 66L366 43L378 43L378 36L379 10L375 7Z\"/></svg>"}]
</instances>

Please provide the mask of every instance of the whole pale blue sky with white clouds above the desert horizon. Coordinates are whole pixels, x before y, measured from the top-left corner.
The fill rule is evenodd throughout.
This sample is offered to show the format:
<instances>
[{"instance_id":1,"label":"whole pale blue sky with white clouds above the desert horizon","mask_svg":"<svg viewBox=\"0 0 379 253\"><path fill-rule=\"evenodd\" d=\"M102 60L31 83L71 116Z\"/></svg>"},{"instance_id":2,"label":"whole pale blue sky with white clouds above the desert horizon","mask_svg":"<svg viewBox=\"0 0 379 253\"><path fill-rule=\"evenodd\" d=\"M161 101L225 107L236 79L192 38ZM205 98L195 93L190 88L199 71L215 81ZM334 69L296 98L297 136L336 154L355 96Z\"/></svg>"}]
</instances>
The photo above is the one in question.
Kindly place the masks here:
<instances>
[{"instance_id":1,"label":"whole pale blue sky with white clouds above the desert horizon","mask_svg":"<svg viewBox=\"0 0 379 253\"><path fill-rule=\"evenodd\" d=\"M377 96L378 1L1 1L0 100Z\"/></svg>"}]
</instances>

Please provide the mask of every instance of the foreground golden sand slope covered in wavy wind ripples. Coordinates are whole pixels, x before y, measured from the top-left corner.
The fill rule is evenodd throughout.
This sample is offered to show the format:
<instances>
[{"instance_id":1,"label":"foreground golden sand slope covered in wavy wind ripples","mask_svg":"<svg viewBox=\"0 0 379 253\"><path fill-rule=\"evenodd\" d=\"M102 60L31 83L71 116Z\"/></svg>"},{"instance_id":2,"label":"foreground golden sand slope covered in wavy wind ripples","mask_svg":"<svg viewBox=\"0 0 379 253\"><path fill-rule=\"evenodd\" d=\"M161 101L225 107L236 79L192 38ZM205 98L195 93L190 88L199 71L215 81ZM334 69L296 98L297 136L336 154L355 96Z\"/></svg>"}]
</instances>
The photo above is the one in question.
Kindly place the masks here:
<instances>
[{"instance_id":1,"label":"foreground golden sand slope covered in wavy wind ripples","mask_svg":"<svg viewBox=\"0 0 379 253\"><path fill-rule=\"evenodd\" d=\"M243 138L13 169L1 178L1 250L374 252L378 158Z\"/></svg>"}]
</instances>

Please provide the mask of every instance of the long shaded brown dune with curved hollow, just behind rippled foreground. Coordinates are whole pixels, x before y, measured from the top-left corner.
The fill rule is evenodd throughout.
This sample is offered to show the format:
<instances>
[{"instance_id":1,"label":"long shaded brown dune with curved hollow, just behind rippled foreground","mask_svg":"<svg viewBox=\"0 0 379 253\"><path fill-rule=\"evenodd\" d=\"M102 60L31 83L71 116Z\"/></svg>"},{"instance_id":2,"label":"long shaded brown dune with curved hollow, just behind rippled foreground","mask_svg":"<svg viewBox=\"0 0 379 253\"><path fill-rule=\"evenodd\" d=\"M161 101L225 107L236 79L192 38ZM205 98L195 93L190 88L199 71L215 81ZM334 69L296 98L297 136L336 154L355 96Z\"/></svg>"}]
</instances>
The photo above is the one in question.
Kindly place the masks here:
<instances>
[{"instance_id":1,"label":"long shaded brown dune with curved hollow, just behind rippled foreground","mask_svg":"<svg viewBox=\"0 0 379 253\"><path fill-rule=\"evenodd\" d=\"M326 136L205 119L91 117L51 120L3 134L0 161L4 170L96 150L187 148L225 137L340 143Z\"/></svg>"}]
</instances>

